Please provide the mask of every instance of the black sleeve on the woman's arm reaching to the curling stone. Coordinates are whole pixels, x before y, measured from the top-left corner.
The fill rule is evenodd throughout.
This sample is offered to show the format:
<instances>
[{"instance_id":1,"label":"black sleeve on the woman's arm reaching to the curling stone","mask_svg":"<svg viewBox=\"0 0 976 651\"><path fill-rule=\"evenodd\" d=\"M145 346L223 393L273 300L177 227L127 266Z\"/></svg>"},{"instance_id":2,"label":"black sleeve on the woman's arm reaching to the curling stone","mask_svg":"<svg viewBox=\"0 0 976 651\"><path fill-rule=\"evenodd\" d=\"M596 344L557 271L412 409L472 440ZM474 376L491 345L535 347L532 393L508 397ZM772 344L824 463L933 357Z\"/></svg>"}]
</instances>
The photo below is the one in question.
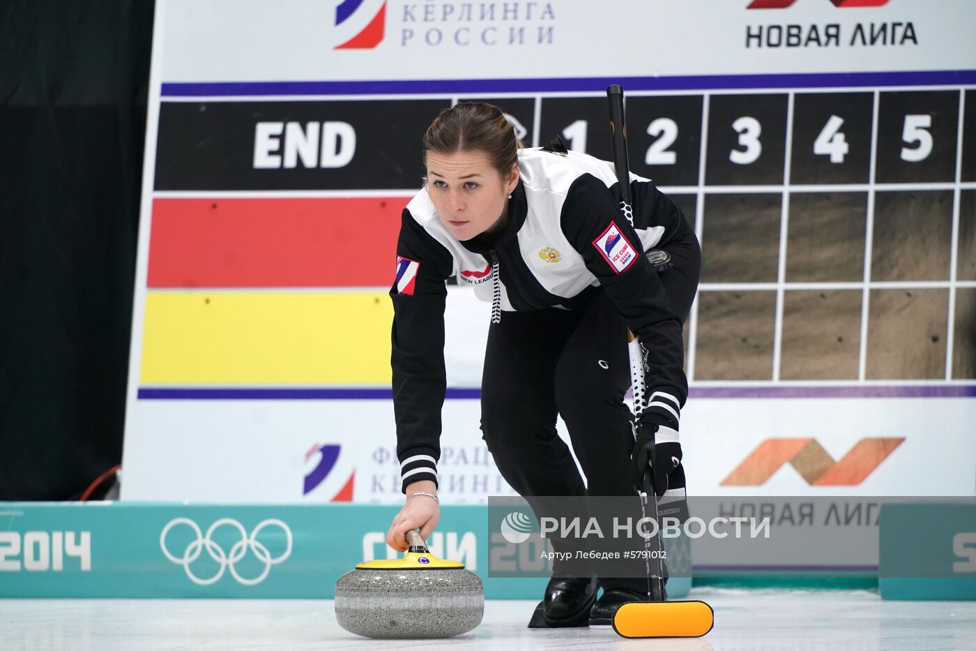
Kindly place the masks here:
<instances>
[{"instance_id":1,"label":"black sleeve on the woman's arm reaching to the curling stone","mask_svg":"<svg viewBox=\"0 0 976 651\"><path fill-rule=\"evenodd\" d=\"M422 479L437 482L444 370L445 280L450 252L404 208L396 244L392 351L393 412L401 490Z\"/></svg>"}]
</instances>

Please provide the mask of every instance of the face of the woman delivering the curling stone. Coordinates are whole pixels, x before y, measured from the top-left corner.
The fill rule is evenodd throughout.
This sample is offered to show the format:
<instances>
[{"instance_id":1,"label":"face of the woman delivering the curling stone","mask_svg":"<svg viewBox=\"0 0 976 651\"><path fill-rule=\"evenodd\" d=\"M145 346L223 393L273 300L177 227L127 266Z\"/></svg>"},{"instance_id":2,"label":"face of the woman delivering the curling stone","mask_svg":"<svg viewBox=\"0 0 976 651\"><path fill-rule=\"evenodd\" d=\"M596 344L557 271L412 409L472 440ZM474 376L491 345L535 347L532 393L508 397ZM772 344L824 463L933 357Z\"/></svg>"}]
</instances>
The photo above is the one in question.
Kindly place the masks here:
<instances>
[{"instance_id":1,"label":"face of the woman delivering the curling stone","mask_svg":"<svg viewBox=\"0 0 976 651\"><path fill-rule=\"evenodd\" d=\"M427 152L427 192L440 221L462 241L500 223L517 184L518 165L504 177L487 152Z\"/></svg>"}]
</instances>

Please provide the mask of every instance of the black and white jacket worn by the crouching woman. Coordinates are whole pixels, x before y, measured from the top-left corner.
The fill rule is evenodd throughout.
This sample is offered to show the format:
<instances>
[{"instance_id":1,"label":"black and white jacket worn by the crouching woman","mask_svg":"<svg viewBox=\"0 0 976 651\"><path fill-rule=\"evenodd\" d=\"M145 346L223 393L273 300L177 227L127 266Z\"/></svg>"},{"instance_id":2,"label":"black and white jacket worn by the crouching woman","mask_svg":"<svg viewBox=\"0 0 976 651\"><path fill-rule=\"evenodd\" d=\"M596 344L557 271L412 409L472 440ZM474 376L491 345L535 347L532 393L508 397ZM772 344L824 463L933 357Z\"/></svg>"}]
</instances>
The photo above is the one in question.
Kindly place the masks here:
<instances>
[{"instance_id":1,"label":"black and white jacket worn by the crouching woman","mask_svg":"<svg viewBox=\"0 0 976 651\"><path fill-rule=\"evenodd\" d=\"M664 247L690 226L654 184L630 176L633 226L618 207L612 163L540 149L518 154L521 179L508 202L508 228L487 240L459 241L441 224L427 194L403 210L396 246L392 371L396 453L404 492L437 481L444 370L445 282L506 311L578 309L602 286L648 351L646 412L677 429L688 392L681 322L643 251Z\"/></svg>"}]
</instances>

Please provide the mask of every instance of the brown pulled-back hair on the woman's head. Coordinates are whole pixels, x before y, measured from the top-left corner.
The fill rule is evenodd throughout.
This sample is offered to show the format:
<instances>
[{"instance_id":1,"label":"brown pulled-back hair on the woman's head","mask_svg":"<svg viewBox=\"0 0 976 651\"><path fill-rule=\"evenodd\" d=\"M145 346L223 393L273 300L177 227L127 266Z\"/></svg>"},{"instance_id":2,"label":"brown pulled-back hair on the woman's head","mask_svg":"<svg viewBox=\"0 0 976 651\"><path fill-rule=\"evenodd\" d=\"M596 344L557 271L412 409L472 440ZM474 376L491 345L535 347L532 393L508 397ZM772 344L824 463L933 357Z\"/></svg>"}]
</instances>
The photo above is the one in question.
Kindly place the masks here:
<instances>
[{"instance_id":1,"label":"brown pulled-back hair on the woman's head","mask_svg":"<svg viewBox=\"0 0 976 651\"><path fill-rule=\"evenodd\" d=\"M485 152L505 177L518 160L521 141L495 105L462 102L440 111L424 134L424 158L427 152Z\"/></svg>"}]
</instances>

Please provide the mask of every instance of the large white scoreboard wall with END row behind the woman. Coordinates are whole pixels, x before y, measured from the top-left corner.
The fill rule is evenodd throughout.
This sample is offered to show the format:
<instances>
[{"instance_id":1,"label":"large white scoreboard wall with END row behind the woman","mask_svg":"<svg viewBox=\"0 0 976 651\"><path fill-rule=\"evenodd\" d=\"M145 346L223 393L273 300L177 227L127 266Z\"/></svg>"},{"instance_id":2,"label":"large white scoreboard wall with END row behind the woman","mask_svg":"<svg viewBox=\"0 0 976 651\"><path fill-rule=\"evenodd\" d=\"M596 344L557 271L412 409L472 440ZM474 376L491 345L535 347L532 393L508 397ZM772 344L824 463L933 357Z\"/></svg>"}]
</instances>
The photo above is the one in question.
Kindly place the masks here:
<instances>
[{"instance_id":1,"label":"large white scoreboard wall with END row behind the woman","mask_svg":"<svg viewBox=\"0 0 976 651\"><path fill-rule=\"evenodd\" d=\"M609 159L614 83L702 243L689 490L897 496L920 463L917 495L970 494L976 3L689 4L158 0L122 498L402 503L388 291L427 126L486 101ZM489 322L448 287L442 503L513 493Z\"/></svg>"}]
</instances>

